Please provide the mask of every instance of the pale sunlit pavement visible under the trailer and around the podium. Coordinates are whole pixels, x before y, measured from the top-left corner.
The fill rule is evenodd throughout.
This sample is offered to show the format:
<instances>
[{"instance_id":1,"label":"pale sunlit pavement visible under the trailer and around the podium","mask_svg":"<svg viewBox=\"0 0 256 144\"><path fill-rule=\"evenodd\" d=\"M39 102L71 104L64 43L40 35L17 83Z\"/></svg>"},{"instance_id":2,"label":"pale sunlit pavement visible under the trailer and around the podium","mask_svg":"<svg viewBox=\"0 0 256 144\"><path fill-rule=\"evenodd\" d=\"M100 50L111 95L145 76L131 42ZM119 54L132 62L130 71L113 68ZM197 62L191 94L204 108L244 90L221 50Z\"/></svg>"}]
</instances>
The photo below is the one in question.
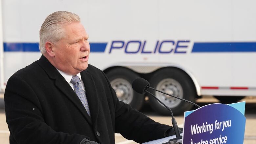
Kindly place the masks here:
<instances>
[{"instance_id":1,"label":"pale sunlit pavement visible under the trailer and around the podium","mask_svg":"<svg viewBox=\"0 0 256 144\"><path fill-rule=\"evenodd\" d=\"M256 97L246 97L241 101L245 101L245 117L246 117L246 125L245 125L245 140L244 144L255 144L256 143ZM200 106L204 106L212 103L219 103L213 97L203 97L202 99L198 99L196 103ZM195 108L196 109L196 108ZM171 125L171 117L170 116L161 116L158 113L154 112L148 103L145 103L143 106L142 113L146 114L153 120L160 122L162 124ZM178 123L179 127L183 127L183 115L175 116L175 119ZM4 99L3 94L0 94L0 142L1 144L9 144L9 130L6 124L5 119L5 110L4 110ZM137 144L132 140L127 140L122 137L121 134L115 134L116 144Z\"/></svg>"}]
</instances>

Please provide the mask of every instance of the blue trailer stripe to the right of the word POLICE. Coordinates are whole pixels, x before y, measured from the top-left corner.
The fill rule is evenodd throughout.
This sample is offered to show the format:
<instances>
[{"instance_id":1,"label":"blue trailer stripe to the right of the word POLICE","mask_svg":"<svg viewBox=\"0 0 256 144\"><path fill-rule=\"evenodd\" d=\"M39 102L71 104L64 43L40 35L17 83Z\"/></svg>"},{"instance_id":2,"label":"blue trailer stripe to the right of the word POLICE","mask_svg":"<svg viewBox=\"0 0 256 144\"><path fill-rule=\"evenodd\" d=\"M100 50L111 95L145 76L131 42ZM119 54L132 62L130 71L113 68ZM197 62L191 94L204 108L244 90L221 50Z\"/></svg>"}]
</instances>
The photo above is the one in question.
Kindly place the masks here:
<instances>
[{"instance_id":1,"label":"blue trailer stripe to the right of the word POLICE","mask_svg":"<svg viewBox=\"0 0 256 144\"><path fill-rule=\"evenodd\" d=\"M192 52L256 52L256 42L195 42Z\"/></svg>"}]
</instances>

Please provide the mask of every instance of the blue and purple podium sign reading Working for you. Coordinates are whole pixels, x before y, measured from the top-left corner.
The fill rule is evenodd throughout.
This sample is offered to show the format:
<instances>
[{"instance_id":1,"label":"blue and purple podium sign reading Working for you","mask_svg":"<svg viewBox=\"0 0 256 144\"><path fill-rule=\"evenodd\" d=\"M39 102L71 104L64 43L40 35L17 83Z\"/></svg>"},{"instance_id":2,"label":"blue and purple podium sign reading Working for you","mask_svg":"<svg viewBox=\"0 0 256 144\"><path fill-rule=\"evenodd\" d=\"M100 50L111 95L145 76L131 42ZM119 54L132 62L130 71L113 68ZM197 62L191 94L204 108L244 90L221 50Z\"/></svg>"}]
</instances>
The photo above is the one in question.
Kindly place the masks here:
<instances>
[{"instance_id":1,"label":"blue and purple podium sign reading Working for you","mask_svg":"<svg viewBox=\"0 0 256 144\"><path fill-rule=\"evenodd\" d=\"M210 104L184 113L183 144L243 144L245 102Z\"/></svg>"}]
</instances>

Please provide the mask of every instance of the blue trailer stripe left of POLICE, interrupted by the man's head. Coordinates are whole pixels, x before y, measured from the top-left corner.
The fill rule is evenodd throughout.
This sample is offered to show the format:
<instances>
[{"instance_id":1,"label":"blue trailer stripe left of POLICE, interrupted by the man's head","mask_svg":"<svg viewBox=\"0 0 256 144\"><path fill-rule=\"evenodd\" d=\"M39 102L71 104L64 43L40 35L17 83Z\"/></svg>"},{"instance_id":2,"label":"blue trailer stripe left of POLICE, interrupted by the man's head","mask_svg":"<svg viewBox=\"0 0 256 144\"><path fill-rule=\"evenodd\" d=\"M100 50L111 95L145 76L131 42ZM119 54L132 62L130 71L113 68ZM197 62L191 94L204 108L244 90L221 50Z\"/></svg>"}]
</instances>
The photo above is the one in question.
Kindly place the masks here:
<instances>
[{"instance_id":1,"label":"blue trailer stripe left of POLICE, interrupted by the man's head","mask_svg":"<svg viewBox=\"0 0 256 144\"><path fill-rule=\"evenodd\" d=\"M107 43L90 43L91 52L104 52ZM5 52L40 52L38 43L4 43Z\"/></svg>"}]
</instances>

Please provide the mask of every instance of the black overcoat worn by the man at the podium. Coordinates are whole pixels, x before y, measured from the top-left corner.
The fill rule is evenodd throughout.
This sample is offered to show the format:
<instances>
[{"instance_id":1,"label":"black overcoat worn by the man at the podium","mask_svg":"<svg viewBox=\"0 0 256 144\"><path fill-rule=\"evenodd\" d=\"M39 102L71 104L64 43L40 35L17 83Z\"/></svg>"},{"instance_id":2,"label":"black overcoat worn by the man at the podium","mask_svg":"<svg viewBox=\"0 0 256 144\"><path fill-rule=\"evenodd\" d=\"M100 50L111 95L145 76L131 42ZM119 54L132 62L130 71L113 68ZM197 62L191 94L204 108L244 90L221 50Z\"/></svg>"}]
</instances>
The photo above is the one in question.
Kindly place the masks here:
<instances>
[{"instance_id":1,"label":"black overcoat worn by the man at the podium","mask_svg":"<svg viewBox=\"0 0 256 144\"><path fill-rule=\"evenodd\" d=\"M83 138L114 144L114 133L138 143L172 128L118 101L106 75L88 65L81 72L87 114L73 89L44 57L13 74L4 95L10 144L79 144Z\"/></svg>"}]
</instances>

